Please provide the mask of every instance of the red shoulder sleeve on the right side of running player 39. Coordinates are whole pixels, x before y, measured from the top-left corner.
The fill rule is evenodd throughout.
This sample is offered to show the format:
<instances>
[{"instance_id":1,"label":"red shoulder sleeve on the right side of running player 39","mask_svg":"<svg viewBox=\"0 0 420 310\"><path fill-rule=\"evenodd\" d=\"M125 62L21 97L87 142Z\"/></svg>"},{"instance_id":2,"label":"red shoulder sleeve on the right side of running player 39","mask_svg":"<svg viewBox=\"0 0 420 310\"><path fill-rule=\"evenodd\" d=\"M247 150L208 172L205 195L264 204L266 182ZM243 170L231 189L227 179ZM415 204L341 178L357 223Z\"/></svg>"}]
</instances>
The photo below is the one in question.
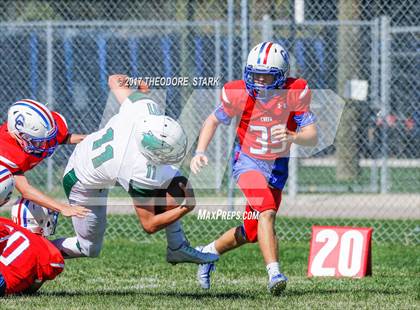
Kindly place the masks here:
<instances>
[{"instance_id":1,"label":"red shoulder sleeve on the right side of running player 39","mask_svg":"<svg viewBox=\"0 0 420 310\"><path fill-rule=\"evenodd\" d=\"M290 106L291 111L296 112L297 115L308 112L312 99L312 92L308 82L304 79L293 79L288 84L287 96L288 102L292 103Z\"/></svg>"}]
</instances>

